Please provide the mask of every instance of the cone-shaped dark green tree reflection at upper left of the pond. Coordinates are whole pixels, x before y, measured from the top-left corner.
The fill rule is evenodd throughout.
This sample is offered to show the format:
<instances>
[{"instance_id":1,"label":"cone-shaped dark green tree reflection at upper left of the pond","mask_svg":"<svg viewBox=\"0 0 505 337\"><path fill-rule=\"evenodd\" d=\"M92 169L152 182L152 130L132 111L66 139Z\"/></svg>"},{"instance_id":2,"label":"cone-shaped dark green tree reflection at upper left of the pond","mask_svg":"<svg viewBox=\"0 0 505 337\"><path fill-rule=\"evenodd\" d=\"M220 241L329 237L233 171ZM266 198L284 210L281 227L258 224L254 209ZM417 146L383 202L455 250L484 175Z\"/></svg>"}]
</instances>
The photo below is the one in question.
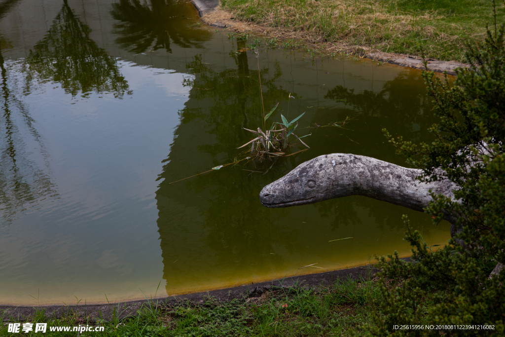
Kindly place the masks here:
<instances>
[{"instance_id":1,"label":"cone-shaped dark green tree reflection at upper left of the pond","mask_svg":"<svg viewBox=\"0 0 505 337\"><path fill-rule=\"evenodd\" d=\"M53 25L26 58L27 78L60 82L72 96L92 91L112 92L116 98L131 94L116 59L90 39L90 32L64 0Z\"/></svg>"}]
</instances>

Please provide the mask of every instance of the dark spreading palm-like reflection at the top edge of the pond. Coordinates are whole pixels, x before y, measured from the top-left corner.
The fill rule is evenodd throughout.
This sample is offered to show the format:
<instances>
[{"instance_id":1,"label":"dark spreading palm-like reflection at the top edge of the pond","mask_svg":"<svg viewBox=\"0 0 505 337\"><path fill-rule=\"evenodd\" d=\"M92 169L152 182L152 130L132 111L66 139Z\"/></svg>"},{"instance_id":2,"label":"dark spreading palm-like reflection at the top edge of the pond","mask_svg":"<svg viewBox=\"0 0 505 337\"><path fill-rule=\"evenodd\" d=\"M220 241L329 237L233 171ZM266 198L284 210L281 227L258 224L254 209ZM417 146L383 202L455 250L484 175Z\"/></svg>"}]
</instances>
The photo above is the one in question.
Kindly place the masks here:
<instances>
[{"instance_id":1,"label":"dark spreading palm-like reflection at the top edge of the pond","mask_svg":"<svg viewBox=\"0 0 505 337\"><path fill-rule=\"evenodd\" d=\"M112 4L116 33L122 35L116 43L132 53L143 53L164 48L172 53L170 41L181 47L198 47L210 38L208 30L197 28L194 8L187 2L172 0L120 0Z\"/></svg>"}]
</instances>

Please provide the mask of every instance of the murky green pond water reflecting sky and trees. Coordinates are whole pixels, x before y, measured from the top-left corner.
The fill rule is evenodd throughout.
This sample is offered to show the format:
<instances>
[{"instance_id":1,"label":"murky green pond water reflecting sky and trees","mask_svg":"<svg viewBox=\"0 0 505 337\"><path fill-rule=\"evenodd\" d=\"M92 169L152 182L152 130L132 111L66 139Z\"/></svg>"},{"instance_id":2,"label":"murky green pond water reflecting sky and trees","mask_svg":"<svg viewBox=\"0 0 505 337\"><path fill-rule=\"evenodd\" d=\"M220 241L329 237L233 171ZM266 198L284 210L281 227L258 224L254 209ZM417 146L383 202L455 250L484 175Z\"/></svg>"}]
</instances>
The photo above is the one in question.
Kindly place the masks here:
<instances>
[{"instance_id":1,"label":"murky green pond water reflecting sky and trees","mask_svg":"<svg viewBox=\"0 0 505 337\"><path fill-rule=\"evenodd\" d=\"M280 121L294 95L289 116L306 112L311 149L171 183L233 161L251 139L241 128L261 125L258 68L192 5L147 4L0 5L0 303L138 299L160 281L157 296L184 294L408 255L401 214L428 244L446 241L448 224L364 197L286 209L258 198L322 154L403 164L381 128L429 139L415 70L262 52L266 109L280 102ZM315 127L346 117L347 129Z\"/></svg>"}]
</instances>

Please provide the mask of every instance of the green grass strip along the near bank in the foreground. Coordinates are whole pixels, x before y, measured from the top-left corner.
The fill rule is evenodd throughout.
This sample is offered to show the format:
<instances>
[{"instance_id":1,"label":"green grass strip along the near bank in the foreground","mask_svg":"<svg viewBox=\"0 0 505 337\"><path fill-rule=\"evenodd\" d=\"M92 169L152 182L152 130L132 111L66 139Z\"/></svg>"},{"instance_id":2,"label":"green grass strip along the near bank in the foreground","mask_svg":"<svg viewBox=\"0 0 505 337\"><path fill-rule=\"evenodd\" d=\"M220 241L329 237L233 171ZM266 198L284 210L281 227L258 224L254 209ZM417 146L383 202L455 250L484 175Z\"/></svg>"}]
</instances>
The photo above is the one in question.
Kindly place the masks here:
<instances>
[{"instance_id":1,"label":"green grass strip along the near bank in the foreground","mask_svg":"<svg viewBox=\"0 0 505 337\"><path fill-rule=\"evenodd\" d=\"M40 311L27 322L48 323L46 333L27 335L75 336L75 332L52 332L51 326L90 324L105 326L89 336L347 336L371 322L373 300L380 297L374 280L346 280L317 290L301 287L277 288L259 298L177 306L150 305L122 321L89 322L68 314L47 318ZM0 316L2 313L0 313ZM4 317L5 319L5 317ZM11 318L10 322L15 322ZM0 336L12 335L0 325ZM17 334L16 334L17 335Z\"/></svg>"}]
</instances>

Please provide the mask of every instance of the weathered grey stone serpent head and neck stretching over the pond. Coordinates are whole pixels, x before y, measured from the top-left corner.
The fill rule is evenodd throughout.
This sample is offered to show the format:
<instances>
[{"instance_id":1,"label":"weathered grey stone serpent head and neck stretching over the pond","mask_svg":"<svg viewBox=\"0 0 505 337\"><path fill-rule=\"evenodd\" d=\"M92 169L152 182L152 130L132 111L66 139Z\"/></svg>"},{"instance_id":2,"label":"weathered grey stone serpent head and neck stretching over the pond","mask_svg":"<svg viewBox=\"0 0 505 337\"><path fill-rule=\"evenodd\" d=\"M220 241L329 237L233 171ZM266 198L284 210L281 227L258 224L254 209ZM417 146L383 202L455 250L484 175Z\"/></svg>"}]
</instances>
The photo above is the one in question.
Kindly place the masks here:
<instances>
[{"instance_id":1,"label":"weathered grey stone serpent head and neck stretching over the pond","mask_svg":"<svg viewBox=\"0 0 505 337\"><path fill-rule=\"evenodd\" d=\"M429 190L454 198L459 187L449 181L421 182L420 169L409 169L375 158L352 154L323 155L298 165L282 178L263 187L261 204L280 208L313 204L348 196L365 196L423 211L431 201ZM450 234L459 232L456 218L444 214L451 223ZM498 263L492 274L503 268Z\"/></svg>"}]
</instances>

